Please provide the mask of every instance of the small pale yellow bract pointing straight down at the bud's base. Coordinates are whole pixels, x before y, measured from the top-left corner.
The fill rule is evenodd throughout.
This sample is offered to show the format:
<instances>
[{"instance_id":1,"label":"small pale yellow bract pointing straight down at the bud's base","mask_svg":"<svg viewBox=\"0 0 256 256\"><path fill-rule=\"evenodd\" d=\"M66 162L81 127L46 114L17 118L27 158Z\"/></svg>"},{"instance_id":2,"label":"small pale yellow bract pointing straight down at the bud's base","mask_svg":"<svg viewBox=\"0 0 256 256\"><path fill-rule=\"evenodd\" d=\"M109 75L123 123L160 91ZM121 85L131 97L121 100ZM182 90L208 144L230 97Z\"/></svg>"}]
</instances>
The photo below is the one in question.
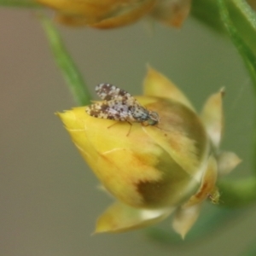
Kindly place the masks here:
<instances>
[{"instance_id":1,"label":"small pale yellow bract pointing straight down at the bud's base","mask_svg":"<svg viewBox=\"0 0 256 256\"><path fill-rule=\"evenodd\" d=\"M172 221L173 229L184 239L199 216L201 205L179 208Z\"/></svg>"}]
</instances>

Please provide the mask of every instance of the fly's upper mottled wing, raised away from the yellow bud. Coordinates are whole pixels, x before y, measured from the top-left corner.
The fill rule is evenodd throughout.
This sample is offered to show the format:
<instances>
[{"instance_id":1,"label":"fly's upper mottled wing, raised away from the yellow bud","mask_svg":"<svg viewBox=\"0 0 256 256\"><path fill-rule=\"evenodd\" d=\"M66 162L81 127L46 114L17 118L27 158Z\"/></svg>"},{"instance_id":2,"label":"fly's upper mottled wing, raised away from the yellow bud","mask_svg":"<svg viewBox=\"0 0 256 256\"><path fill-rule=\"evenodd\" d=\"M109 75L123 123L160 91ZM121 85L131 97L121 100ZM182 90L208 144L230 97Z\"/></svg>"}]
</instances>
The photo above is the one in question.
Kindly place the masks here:
<instances>
[{"instance_id":1,"label":"fly's upper mottled wing, raised away from the yellow bud","mask_svg":"<svg viewBox=\"0 0 256 256\"><path fill-rule=\"evenodd\" d=\"M105 101L119 100L126 101L133 98L130 93L120 89L113 84L98 84L96 85L96 94ZM134 99L134 98L133 98Z\"/></svg>"}]
</instances>

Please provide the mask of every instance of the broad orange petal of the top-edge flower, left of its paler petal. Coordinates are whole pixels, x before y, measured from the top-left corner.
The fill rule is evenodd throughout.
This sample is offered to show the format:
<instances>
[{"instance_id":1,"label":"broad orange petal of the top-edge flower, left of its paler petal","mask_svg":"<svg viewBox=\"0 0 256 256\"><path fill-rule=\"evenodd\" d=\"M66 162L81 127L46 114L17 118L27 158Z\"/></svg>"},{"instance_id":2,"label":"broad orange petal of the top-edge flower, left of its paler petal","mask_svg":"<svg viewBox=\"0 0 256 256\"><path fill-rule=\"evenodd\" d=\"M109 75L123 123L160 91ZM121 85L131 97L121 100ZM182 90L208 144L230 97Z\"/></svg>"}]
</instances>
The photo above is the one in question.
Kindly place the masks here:
<instances>
[{"instance_id":1,"label":"broad orange petal of the top-edge flower, left of its paler petal","mask_svg":"<svg viewBox=\"0 0 256 256\"><path fill-rule=\"evenodd\" d=\"M56 10L56 20L69 26L112 28L146 15L156 0L37 0Z\"/></svg>"}]
</instances>

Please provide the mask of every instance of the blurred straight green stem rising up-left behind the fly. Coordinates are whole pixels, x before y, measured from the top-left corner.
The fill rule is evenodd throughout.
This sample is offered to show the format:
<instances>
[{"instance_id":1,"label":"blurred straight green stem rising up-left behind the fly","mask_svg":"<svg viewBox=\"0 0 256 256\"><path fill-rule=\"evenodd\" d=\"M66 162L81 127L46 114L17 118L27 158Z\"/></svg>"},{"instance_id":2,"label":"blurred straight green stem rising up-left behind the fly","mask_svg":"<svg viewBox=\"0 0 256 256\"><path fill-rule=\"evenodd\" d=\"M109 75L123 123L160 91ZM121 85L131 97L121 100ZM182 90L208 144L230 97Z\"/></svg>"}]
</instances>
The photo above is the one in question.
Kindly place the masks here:
<instances>
[{"instance_id":1,"label":"blurred straight green stem rising up-left behind the fly","mask_svg":"<svg viewBox=\"0 0 256 256\"><path fill-rule=\"evenodd\" d=\"M44 31L49 40L49 45L55 57L57 65L60 67L67 86L71 90L75 101L79 106L90 104L90 92L84 83L79 68L73 62L71 55L67 52L62 42L60 34L57 32L52 23L45 17L41 17Z\"/></svg>"}]
</instances>

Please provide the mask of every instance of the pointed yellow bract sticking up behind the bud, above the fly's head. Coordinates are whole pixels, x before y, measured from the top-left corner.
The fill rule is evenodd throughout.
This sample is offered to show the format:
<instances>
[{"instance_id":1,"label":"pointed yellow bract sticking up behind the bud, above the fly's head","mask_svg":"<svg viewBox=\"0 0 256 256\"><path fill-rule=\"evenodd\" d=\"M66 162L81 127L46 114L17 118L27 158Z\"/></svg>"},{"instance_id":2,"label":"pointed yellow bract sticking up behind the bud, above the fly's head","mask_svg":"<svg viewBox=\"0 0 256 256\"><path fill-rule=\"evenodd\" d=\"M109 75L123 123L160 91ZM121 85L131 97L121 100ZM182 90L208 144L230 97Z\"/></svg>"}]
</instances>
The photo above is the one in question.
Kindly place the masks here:
<instances>
[{"instance_id":1,"label":"pointed yellow bract sticking up behind the bud, above the fly's head","mask_svg":"<svg viewBox=\"0 0 256 256\"><path fill-rule=\"evenodd\" d=\"M148 67L148 73L144 79L143 94L145 96L158 96L169 98L182 103L184 106L195 111L192 104L175 84L167 79L163 74L157 72L152 67Z\"/></svg>"}]
</instances>

